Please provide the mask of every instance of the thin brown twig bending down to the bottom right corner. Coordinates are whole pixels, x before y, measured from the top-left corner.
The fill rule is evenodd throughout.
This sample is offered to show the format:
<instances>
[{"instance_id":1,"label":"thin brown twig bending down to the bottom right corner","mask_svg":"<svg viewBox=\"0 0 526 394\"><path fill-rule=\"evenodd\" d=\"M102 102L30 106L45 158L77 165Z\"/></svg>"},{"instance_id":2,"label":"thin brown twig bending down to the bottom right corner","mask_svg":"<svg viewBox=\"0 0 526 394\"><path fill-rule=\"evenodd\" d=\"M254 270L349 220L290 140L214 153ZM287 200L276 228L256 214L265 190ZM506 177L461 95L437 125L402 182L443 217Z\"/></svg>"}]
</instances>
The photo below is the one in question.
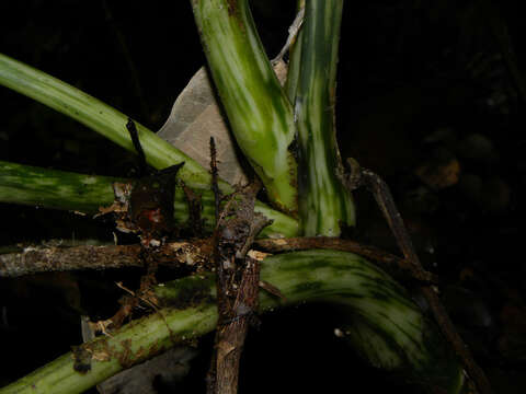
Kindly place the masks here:
<instances>
[{"instance_id":1,"label":"thin brown twig bending down to the bottom right corner","mask_svg":"<svg viewBox=\"0 0 526 394\"><path fill-rule=\"evenodd\" d=\"M373 194L397 240L398 246L402 251L405 259L410 263L408 268L413 275L418 275L423 270L422 264L414 251L411 237L409 236L402 217L395 204L389 186L374 172L359 167L359 164L356 161L348 160L348 164L351 166L351 176L347 179L346 186L350 189L365 186ZM442 304L441 299L433 287L428 285L420 286L420 290L430 304L430 309L433 312L442 333L451 344L455 352L462 361L467 373L473 380L480 393L491 394L491 385L484 371L474 361L471 351L456 331L446 309Z\"/></svg>"}]
</instances>

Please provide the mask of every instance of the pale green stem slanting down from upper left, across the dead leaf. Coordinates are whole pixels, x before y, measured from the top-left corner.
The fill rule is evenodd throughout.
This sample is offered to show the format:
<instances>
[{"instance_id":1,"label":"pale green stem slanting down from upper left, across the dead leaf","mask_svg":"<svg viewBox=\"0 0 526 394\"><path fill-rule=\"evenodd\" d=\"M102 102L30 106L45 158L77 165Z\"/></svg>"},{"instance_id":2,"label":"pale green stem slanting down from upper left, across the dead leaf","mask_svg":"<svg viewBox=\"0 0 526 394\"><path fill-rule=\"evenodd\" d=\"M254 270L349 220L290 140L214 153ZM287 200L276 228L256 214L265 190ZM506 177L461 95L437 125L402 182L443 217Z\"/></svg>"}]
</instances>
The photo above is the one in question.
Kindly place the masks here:
<instances>
[{"instance_id":1,"label":"pale green stem slanting down from upper left, across the dead leaf","mask_svg":"<svg viewBox=\"0 0 526 394\"><path fill-rule=\"evenodd\" d=\"M43 71L0 54L0 84L32 97L135 152L126 129L128 117L95 97ZM190 187L205 188L210 175L197 162L139 123L135 123L148 164L165 169L184 161L179 172ZM231 190L226 183L221 186Z\"/></svg>"}]
</instances>

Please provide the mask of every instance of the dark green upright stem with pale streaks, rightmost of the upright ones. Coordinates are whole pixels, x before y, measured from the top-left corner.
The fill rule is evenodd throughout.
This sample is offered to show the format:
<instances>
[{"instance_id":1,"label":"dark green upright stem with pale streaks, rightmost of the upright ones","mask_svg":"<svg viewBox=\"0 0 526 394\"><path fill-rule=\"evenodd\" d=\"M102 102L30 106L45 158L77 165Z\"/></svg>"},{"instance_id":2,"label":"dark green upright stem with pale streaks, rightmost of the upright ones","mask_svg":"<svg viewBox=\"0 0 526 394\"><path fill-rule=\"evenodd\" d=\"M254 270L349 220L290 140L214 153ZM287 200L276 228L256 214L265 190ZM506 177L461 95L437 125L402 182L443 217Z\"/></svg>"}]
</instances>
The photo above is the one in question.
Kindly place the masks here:
<instances>
[{"instance_id":1,"label":"dark green upright stem with pale streaks, rightmost of the upright ones","mask_svg":"<svg viewBox=\"0 0 526 394\"><path fill-rule=\"evenodd\" d=\"M305 21L293 48L293 73L287 85L298 128L300 227L308 236L338 236L341 223L355 222L352 196L338 176L342 165L334 124L343 0L310 0L305 5ZM299 70L295 71L297 62Z\"/></svg>"}]
</instances>

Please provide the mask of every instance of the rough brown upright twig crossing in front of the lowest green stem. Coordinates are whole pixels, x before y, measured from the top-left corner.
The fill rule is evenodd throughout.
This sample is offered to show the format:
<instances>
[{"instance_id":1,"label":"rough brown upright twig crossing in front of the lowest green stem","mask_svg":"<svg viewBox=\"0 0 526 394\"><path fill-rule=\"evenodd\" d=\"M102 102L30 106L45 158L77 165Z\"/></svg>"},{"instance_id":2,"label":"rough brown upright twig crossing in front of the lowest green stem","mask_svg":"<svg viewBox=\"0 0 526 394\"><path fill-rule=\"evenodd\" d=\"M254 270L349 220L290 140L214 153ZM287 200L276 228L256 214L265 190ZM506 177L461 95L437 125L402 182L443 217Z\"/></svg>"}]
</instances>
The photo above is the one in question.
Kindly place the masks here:
<instances>
[{"instance_id":1,"label":"rough brown upright twig crossing in front of the lowest green stem","mask_svg":"<svg viewBox=\"0 0 526 394\"><path fill-rule=\"evenodd\" d=\"M252 184L231 195L214 233L219 321L207 375L209 394L238 391L239 361L250 317L258 308L260 283L260 264L247 253L255 235L270 224L265 217L254 213L259 188Z\"/></svg>"}]
</instances>

